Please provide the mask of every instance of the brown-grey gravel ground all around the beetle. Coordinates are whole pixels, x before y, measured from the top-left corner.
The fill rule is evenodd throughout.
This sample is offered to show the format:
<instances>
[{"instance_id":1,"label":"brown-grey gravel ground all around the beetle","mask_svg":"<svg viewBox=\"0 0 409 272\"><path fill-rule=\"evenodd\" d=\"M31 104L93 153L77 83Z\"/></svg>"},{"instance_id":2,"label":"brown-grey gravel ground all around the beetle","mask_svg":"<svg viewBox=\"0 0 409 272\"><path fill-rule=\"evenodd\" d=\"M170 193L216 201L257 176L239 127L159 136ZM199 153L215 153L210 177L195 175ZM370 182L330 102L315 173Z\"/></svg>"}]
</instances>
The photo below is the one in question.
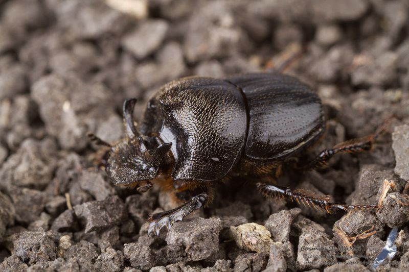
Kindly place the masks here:
<instances>
[{"instance_id":1,"label":"brown-grey gravel ground all around the beetle","mask_svg":"<svg viewBox=\"0 0 409 272\"><path fill-rule=\"evenodd\" d=\"M409 268L409 2L105 2L0 0L0 270L368 271L394 227L397 253L378 270ZM138 118L170 80L271 69L302 46L286 73L328 116L312 152L399 118L372 152L278 182L383 207L329 215L237 179L148 237L149 214L172 203L113 187L86 132L118 140L125 98Z\"/></svg>"}]
</instances>

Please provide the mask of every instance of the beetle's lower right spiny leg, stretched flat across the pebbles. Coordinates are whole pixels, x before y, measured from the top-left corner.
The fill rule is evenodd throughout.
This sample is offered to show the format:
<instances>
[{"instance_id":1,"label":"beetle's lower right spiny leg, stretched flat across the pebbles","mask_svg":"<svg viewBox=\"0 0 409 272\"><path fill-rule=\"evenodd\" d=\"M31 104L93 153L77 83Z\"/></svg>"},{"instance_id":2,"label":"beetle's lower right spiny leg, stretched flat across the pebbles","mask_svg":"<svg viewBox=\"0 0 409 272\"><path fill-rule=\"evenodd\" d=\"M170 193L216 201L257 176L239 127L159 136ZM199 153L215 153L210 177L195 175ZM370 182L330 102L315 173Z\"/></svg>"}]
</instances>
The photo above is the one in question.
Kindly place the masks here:
<instances>
[{"instance_id":1,"label":"beetle's lower right spiny leg, stretched flat across the pebbles","mask_svg":"<svg viewBox=\"0 0 409 272\"><path fill-rule=\"evenodd\" d=\"M265 196L285 197L291 201L297 201L304 205L310 206L310 204L321 210L325 210L328 213L332 213L334 209L348 211L350 209L377 209L378 205L348 205L345 203L333 203L330 202L329 195L319 196L307 193L305 190L291 190L286 187L268 185L265 183L257 183L257 187Z\"/></svg>"}]
</instances>

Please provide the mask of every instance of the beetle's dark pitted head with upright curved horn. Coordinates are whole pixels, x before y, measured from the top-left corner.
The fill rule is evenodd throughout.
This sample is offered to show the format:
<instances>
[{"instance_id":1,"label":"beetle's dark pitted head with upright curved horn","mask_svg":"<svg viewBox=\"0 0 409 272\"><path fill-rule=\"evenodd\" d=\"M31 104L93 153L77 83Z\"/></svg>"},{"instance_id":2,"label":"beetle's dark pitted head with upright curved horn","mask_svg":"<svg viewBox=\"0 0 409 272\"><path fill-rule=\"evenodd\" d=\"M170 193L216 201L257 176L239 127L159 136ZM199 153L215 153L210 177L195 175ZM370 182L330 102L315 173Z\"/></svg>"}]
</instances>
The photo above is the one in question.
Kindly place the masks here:
<instances>
[{"instance_id":1,"label":"beetle's dark pitted head with upright curved horn","mask_svg":"<svg viewBox=\"0 0 409 272\"><path fill-rule=\"evenodd\" d=\"M140 185L150 181L161 168L172 143L158 143L154 137L139 136L133 122L136 99L124 102L124 126L126 138L113 145L108 153L105 169L115 185Z\"/></svg>"}]
</instances>

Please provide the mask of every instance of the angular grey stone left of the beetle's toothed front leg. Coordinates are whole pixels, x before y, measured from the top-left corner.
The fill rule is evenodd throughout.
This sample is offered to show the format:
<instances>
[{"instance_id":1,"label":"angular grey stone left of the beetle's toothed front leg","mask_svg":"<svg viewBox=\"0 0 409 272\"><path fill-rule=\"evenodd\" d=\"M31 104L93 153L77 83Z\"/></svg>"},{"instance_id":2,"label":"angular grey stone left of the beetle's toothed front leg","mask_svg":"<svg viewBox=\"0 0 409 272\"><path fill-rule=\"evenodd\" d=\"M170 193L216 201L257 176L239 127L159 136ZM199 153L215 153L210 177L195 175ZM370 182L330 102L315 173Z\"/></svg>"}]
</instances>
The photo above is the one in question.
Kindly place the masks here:
<instances>
[{"instance_id":1,"label":"angular grey stone left of the beetle's toothed front leg","mask_svg":"<svg viewBox=\"0 0 409 272\"><path fill-rule=\"evenodd\" d=\"M86 221L85 233L119 225L127 217L125 205L117 195L76 205L74 211L78 218Z\"/></svg>"}]
</instances>

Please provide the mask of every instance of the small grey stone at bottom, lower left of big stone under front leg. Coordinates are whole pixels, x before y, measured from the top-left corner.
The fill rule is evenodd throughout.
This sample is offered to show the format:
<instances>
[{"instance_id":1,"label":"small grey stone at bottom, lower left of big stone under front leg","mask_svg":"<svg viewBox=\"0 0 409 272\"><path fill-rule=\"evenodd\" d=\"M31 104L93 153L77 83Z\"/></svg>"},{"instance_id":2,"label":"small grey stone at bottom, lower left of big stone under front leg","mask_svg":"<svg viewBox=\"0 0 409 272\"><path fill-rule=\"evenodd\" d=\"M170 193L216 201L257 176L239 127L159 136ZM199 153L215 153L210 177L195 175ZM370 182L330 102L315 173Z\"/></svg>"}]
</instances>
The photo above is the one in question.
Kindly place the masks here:
<instances>
[{"instance_id":1,"label":"small grey stone at bottom, lower left of big stone under front leg","mask_svg":"<svg viewBox=\"0 0 409 272\"><path fill-rule=\"evenodd\" d=\"M124 244L124 254L131 266L137 269L148 270L156 264L156 257L152 250L141 243Z\"/></svg>"}]
</instances>

